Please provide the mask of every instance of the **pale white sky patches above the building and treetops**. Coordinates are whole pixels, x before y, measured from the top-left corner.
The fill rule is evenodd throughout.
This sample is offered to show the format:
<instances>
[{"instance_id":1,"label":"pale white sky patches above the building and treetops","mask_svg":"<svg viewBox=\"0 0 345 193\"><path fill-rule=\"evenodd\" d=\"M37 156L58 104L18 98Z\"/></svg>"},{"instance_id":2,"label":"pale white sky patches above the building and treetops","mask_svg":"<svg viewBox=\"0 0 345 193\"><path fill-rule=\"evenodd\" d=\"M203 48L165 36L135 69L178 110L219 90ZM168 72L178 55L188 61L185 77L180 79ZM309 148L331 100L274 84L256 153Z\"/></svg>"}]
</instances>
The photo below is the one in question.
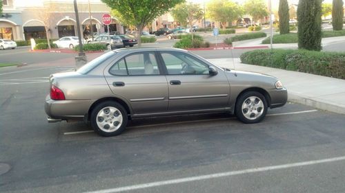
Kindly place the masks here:
<instances>
[{"instance_id":1,"label":"pale white sky patches above the building and treetops","mask_svg":"<svg viewBox=\"0 0 345 193\"><path fill-rule=\"evenodd\" d=\"M61 2L73 2L72 0L54 0L54 1L61 1ZM193 3L200 3L200 4L204 4L204 3L208 3L209 1L212 0L187 0ZM244 3L244 1L246 0L233 0L235 2L238 2L240 4ZM269 0L266 0L267 2ZM273 8L278 8L279 5L279 0L271 0L272 1L272 7ZM77 0L77 2L88 2L88 0ZM99 3L101 2L101 0L90 0L90 2L95 2L95 3ZM289 3L293 3L293 4L298 4L298 0L288 0ZM332 0L324 0L324 3L332 3ZM14 6L16 7L25 7L25 6L39 6L43 4L43 0L15 0L15 4Z\"/></svg>"}]
</instances>

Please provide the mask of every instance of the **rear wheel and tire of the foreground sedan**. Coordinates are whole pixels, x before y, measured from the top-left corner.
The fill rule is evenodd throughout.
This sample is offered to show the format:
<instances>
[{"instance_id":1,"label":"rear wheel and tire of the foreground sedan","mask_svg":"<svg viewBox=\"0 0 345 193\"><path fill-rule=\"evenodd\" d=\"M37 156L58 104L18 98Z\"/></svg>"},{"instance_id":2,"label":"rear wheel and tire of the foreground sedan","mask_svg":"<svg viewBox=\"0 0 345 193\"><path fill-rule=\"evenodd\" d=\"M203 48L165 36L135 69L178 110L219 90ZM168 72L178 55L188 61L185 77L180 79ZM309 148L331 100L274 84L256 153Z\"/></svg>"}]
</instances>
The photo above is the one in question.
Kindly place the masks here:
<instances>
[{"instance_id":1,"label":"rear wheel and tire of the foreground sedan","mask_svg":"<svg viewBox=\"0 0 345 193\"><path fill-rule=\"evenodd\" d=\"M127 125L127 111L113 101L101 102L90 115L90 123L96 133L103 137L121 134Z\"/></svg>"}]
</instances>

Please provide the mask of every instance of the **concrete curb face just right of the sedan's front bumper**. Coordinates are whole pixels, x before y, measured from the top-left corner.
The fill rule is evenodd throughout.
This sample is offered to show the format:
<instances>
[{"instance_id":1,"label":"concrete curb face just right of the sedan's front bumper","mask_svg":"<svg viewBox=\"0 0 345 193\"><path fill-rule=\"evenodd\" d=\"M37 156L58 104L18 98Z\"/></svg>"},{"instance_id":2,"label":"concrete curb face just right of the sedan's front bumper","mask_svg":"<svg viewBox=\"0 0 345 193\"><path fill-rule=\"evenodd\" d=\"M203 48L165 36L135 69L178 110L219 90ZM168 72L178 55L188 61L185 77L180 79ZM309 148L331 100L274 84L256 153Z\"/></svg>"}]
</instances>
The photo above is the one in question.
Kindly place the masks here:
<instances>
[{"instance_id":1,"label":"concrete curb face just right of the sedan's front bumper","mask_svg":"<svg viewBox=\"0 0 345 193\"><path fill-rule=\"evenodd\" d=\"M312 106L316 109L321 109L324 111L330 111L333 113L339 113L345 115L345 106L339 104L333 104L332 102L322 101L322 100L314 100L313 98L309 98L304 95L291 93L288 91L288 101L295 102L298 104L304 104L306 106Z\"/></svg>"}]
</instances>

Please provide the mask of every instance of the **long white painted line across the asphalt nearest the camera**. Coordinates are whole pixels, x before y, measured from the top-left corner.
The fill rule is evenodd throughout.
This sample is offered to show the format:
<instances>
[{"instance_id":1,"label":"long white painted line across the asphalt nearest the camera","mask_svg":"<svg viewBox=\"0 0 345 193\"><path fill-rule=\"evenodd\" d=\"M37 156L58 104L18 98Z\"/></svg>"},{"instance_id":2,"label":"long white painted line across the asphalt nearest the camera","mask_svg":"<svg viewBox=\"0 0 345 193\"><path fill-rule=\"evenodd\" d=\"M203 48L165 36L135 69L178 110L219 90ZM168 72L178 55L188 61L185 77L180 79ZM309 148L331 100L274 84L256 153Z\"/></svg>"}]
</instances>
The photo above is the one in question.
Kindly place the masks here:
<instances>
[{"instance_id":1,"label":"long white painted line across the asphalt nearest the camera","mask_svg":"<svg viewBox=\"0 0 345 193\"><path fill-rule=\"evenodd\" d=\"M105 190L97 190L95 192L85 192L85 193L112 193L112 192L124 192L124 191L130 191L130 190L141 190L144 188L152 188L162 185L171 185L171 184L178 184L178 183L187 183L191 181L201 181L201 180L207 180L207 179L216 179L221 177L231 177L235 175L241 175L241 174L250 174L250 173L256 173L256 172L266 172L266 171L272 171L272 170L282 170L287 168L295 168L295 167L301 167L301 166L311 166L319 163L329 163L329 162L335 162L335 161L344 161L345 156L342 157L333 157L329 159L317 159L313 161L303 161L303 162L296 162L296 163L287 163L282 165L276 165L276 166L266 166L262 168L250 168L246 170L235 170L230 172L221 172L221 173L214 173L214 174L207 174L207 175L201 175L201 176L195 176L195 177L185 177L180 179L171 179L166 181L155 181L151 183L141 183L137 185L128 185L123 186L119 188L110 188Z\"/></svg>"}]
</instances>

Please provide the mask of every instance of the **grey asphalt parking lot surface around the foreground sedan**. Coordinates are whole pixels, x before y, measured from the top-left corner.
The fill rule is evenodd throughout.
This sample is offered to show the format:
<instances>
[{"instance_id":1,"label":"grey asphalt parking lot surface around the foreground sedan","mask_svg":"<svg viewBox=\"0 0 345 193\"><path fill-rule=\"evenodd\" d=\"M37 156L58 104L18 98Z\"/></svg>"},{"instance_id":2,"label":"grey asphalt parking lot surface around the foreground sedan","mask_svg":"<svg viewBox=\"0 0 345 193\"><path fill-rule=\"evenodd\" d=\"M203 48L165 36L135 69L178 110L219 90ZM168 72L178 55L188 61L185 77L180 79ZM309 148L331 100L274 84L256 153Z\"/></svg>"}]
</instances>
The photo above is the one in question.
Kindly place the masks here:
<instances>
[{"instance_id":1,"label":"grey asphalt parking lot surface around the foreground sedan","mask_svg":"<svg viewBox=\"0 0 345 193\"><path fill-rule=\"evenodd\" d=\"M71 67L0 70L0 192L345 192L344 115L286 104L259 124L152 117L100 137L46 122L48 76Z\"/></svg>"}]
</instances>

